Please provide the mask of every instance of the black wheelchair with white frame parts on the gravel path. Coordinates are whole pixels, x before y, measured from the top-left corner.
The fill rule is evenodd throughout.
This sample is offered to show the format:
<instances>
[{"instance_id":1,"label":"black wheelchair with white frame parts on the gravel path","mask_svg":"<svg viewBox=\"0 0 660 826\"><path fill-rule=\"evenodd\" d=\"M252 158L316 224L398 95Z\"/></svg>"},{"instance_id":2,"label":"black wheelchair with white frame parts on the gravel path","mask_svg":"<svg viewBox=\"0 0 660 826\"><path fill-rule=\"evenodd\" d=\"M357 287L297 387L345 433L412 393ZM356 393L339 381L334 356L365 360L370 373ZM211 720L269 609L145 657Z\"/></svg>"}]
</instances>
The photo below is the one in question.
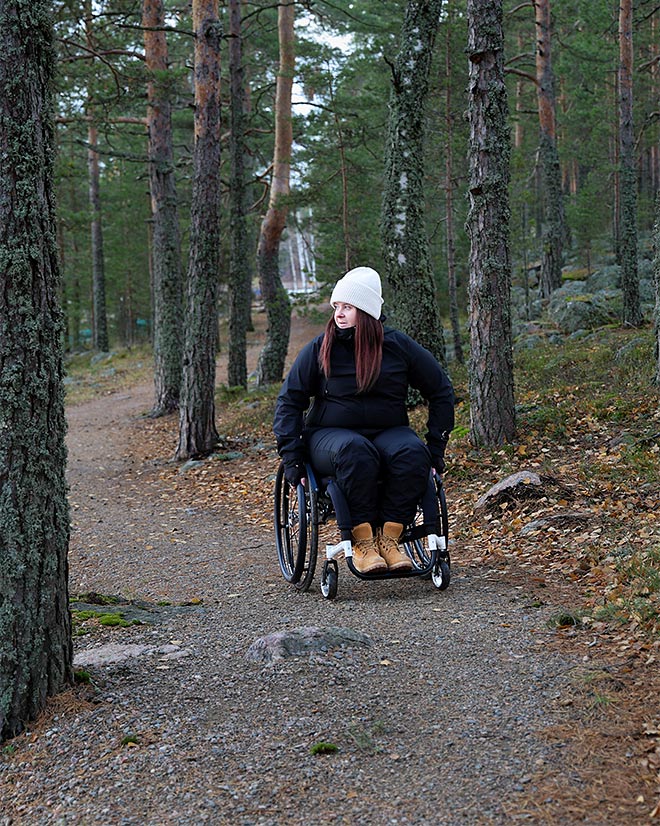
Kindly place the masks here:
<instances>
[{"instance_id":1,"label":"black wheelchair with white frame parts on the gravel path","mask_svg":"<svg viewBox=\"0 0 660 826\"><path fill-rule=\"evenodd\" d=\"M321 593L335 599L339 583L337 559L342 555L350 572L359 579L430 579L444 591L451 579L447 502L442 477L429 474L429 481L413 521L404 527L399 544L412 560L412 569L362 573L353 564L351 519L343 493L334 479L317 478L306 464L305 484L292 487L280 463L275 478L274 527L277 556L284 579L298 591L307 591L314 578L319 537L332 521L340 541L327 543L321 571ZM336 539L336 530L332 538Z\"/></svg>"}]
</instances>

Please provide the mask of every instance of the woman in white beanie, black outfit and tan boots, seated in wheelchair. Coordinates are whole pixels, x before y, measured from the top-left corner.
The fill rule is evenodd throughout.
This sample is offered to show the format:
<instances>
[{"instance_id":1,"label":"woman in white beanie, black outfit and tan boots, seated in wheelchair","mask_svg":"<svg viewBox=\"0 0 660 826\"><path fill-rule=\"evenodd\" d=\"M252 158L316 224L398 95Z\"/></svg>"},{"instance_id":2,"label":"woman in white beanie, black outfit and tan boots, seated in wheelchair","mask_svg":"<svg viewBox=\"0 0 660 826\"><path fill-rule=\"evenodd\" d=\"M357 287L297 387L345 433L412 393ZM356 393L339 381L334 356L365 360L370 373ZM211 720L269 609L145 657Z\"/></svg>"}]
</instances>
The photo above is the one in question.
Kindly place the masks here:
<instances>
[{"instance_id":1,"label":"woman in white beanie, black outfit and tan boots, seated in wheelchair","mask_svg":"<svg viewBox=\"0 0 660 826\"><path fill-rule=\"evenodd\" d=\"M334 477L350 510L360 573L410 570L399 539L431 468L444 470L452 385L428 350L383 326L375 270L350 270L330 303L325 332L300 351L277 398L273 430L285 477L297 485L306 458L317 475ZM428 403L426 444L408 423L409 387Z\"/></svg>"}]
</instances>

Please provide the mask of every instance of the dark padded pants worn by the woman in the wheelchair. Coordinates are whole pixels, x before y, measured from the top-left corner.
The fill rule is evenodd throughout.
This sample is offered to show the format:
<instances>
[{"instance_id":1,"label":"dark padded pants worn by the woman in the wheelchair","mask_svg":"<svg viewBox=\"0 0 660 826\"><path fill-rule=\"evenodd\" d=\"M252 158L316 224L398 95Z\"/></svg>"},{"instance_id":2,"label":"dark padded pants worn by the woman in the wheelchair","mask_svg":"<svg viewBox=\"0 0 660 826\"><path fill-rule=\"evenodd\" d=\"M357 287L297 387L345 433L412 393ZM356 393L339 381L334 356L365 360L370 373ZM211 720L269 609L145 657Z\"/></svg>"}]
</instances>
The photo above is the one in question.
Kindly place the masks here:
<instances>
[{"instance_id":1,"label":"dark padded pants worn by the woman in the wheelchair","mask_svg":"<svg viewBox=\"0 0 660 826\"><path fill-rule=\"evenodd\" d=\"M341 427L321 428L307 437L307 447L317 473L335 477L353 526L412 521L428 484L431 454L411 428L393 427L368 437Z\"/></svg>"}]
</instances>

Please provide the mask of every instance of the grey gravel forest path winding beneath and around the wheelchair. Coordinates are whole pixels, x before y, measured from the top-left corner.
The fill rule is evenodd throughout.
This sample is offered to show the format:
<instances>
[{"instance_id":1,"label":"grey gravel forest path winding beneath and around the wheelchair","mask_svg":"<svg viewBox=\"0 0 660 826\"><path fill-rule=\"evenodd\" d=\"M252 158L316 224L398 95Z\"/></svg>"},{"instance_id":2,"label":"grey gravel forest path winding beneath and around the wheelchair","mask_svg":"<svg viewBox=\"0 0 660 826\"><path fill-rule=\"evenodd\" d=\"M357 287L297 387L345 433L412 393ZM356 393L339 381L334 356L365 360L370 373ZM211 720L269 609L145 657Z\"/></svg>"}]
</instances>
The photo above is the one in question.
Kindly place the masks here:
<instances>
[{"instance_id":1,"label":"grey gravel forest path winding beneath and around the wheelchair","mask_svg":"<svg viewBox=\"0 0 660 826\"><path fill-rule=\"evenodd\" d=\"M445 592L342 569L336 601L318 581L299 594L253 497L271 484L272 445L181 473L169 459L176 423L144 416L151 393L68 412L71 592L137 601L148 622L88 622L75 637L92 685L55 698L13 742L0 823L648 817L632 775L611 796L576 764L576 674L588 657L558 644L547 624L556 606L539 606L524 575L455 547ZM304 626L351 628L372 645L246 659L257 638ZM313 753L319 743L336 750Z\"/></svg>"}]
</instances>

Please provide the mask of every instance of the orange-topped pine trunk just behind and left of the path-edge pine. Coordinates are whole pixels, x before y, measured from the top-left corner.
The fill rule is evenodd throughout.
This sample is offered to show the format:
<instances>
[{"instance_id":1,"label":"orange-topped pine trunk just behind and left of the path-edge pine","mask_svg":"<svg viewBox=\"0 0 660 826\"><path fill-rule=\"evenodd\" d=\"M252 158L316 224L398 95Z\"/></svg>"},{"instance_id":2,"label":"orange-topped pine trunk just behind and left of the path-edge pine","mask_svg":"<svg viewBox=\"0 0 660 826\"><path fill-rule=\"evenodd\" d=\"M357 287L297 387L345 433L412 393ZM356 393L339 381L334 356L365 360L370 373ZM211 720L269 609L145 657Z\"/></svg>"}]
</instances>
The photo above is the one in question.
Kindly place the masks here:
<instances>
[{"instance_id":1,"label":"orange-topped pine trunk just behind and left of the path-edge pine","mask_svg":"<svg viewBox=\"0 0 660 826\"><path fill-rule=\"evenodd\" d=\"M152 213L154 406L178 409L183 349L183 283L172 147L172 104L163 0L143 0L144 53L149 71L147 128Z\"/></svg>"}]
</instances>

